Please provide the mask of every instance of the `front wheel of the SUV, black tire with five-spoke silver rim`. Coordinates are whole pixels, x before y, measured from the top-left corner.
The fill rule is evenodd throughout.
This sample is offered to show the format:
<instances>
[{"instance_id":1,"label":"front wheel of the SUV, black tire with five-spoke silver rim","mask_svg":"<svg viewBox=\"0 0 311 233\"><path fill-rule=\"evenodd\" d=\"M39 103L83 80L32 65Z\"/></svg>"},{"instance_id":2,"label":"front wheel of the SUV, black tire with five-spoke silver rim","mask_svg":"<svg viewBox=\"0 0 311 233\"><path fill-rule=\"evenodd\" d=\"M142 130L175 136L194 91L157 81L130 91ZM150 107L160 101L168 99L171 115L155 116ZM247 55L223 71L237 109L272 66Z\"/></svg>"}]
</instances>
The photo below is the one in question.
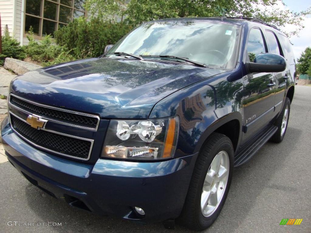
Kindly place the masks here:
<instances>
[{"instance_id":1,"label":"front wheel of the SUV, black tire with five-spoke silver rim","mask_svg":"<svg viewBox=\"0 0 311 233\"><path fill-rule=\"evenodd\" d=\"M234 162L231 140L213 133L202 148L179 222L202 231L218 217L229 192Z\"/></svg>"}]
</instances>

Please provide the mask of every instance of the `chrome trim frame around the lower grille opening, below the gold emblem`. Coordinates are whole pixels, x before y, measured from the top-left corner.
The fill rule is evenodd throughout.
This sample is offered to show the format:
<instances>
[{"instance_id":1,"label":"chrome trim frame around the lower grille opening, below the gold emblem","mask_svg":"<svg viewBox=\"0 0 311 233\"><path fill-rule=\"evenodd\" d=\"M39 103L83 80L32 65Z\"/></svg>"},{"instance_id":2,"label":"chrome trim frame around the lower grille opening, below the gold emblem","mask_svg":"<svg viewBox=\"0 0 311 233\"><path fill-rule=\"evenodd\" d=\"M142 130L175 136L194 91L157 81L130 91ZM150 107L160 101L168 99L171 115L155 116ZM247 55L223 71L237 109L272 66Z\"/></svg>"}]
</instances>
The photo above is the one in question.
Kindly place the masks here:
<instances>
[{"instance_id":1,"label":"chrome trim frame around the lower grille opening, below the gold emblem","mask_svg":"<svg viewBox=\"0 0 311 233\"><path fill-rule=\"evenodd\" d=\"M14 117L20 119L21 121L27 123L28 125L30 125L27 121L25 121L24 119L22 119L21 117L18 117L16 116L14 113L12 113L11 111L9 111L9 114L13 115ZM67 136L67 137L71 137L71 138L76 138L76 139L81 139L81 140L85 140L85 141L89 141L91 142L91 147L90 147L90 151L89 151L89 154L88 154L88 157L87 158L79 158L79 157L75 157L75 156L72 156L72 155L68 155L68 154L64 154L64 153L59 153L59 152L56 152L56 151L53 151L53 150L50 150L48 148L45 148L45 147L42 147L42 146L39 146L35 143L33 143L32 141L30 141L29 139L26 139L24 136L22 136L20 133L18 133L12 126L12 122L11 122L11 116L9 116L9 121L10 121L10 125L11 125L11 128L12 130L16 133L16 135L18 135L19 137L21 137L22 139L24 139L25 141L27 141L28 143L36 146L36 147L39 147L41 149L44 149L44 150L47 150L49 152L53 152L53 153L56 153L56 154L60 154L60 155L63 155L63 156L66 156L66 157L70 157L70 158L75 158L75 159L80 159L80 160L84 160L84 161L87 161L90 159L91 157L91 152L92 152L92 149L93 149L93 143L94 143L94 140L93 139L88 139L88 138L81 138L81 137L77 137L77 136L73 136L73 135L69 135L69 134L64 134L64 133L60 133L60 132L56 132L56 131L53 131L53 130L47 130L47 129L43 129L41 128L40 130L44 130L44 131L47 131L47 132L51 132L51 133L54 133L54 134L59 134L59 135L63 135L63 136Z\"/></svg>"}]
</instances>

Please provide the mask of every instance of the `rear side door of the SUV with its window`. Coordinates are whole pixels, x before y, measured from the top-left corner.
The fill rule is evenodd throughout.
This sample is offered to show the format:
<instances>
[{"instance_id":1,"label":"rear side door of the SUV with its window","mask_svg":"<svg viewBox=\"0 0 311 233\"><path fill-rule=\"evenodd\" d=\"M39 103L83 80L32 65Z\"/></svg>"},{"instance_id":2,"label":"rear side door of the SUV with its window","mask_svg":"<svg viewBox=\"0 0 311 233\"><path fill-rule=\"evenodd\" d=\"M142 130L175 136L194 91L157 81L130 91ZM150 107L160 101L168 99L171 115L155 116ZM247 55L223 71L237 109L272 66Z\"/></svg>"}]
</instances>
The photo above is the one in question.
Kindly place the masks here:
<instances>
[{"instance_id":1,"label":"rear side door of the SUV with its window","mask_svg":"<svg viewBox=\"0 0 311 233\"><path fill-rule=\"evenodd\" d=\"M283 56L283 53L281 52L281 49L280 49L281 46L276 37L276 34L274 34L274 32L272 32L271 30L265 30L265 36L266 36L266 42L267 42L269 53L275 53L275 54ZM274 111L274 115L276 115L278 112L281 111L282 103L285 98L285 93L287 89L286 88L287 79L290 78L289 75L290 73L288 72L288 65L286 66L285 71L274 73L273 75L274 82L276 84L275 95L274 95L274 104L275 104L276 109Z\"/></svg>"}]
</instances>

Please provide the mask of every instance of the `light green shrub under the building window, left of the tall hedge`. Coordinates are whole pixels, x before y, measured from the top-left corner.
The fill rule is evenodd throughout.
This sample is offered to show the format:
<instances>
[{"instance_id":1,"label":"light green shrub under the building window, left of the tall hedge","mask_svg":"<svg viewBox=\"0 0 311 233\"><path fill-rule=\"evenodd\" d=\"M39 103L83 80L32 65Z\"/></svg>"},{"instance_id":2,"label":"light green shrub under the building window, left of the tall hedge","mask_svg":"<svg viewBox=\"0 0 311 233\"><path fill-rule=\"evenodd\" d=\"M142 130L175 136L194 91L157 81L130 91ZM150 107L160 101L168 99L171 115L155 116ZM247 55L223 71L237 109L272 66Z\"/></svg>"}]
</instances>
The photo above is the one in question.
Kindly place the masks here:
<instances>
[{"instance_id":1,"label":"light green shrub under the building window, left of the tall hedge","mask_svg":"<svg viewBox=\"0 0 311 233\"><path fill-rule=\"evenodd\" d=\"M67 51L67 48L54 43L51 35L45 35L38 43L35 41L32 30L27 35L29 44L25 46L25 51L32 60L41 62L43 66L54 65L61 62L75 60Z\"/></svg>"}]
</instances>

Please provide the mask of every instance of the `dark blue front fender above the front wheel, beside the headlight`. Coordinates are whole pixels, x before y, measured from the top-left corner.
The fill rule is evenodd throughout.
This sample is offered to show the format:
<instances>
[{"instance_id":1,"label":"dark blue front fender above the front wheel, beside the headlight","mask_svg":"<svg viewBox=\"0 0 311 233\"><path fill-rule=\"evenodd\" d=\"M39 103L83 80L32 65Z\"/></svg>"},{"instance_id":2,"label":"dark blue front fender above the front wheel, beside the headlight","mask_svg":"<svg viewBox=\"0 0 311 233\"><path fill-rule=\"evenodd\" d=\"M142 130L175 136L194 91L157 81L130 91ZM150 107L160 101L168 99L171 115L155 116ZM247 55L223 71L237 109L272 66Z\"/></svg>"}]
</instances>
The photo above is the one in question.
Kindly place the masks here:
<instances>
[{"instance_id":1,"label":"dark blue front fender above the front wheel, beside the headlight","mask_svg":"<svg viewBox=\"0 0 311 233\"><path fill-rule=\"evenodd\" d=\"M228 75L181 89L158 102L149 118L179 116L179 139L174 157L197 153L207 137L225 123L239 121L242 80L228 81ZM240 141L237 139L238 143Z\"/></svg>"}]
</instances>

